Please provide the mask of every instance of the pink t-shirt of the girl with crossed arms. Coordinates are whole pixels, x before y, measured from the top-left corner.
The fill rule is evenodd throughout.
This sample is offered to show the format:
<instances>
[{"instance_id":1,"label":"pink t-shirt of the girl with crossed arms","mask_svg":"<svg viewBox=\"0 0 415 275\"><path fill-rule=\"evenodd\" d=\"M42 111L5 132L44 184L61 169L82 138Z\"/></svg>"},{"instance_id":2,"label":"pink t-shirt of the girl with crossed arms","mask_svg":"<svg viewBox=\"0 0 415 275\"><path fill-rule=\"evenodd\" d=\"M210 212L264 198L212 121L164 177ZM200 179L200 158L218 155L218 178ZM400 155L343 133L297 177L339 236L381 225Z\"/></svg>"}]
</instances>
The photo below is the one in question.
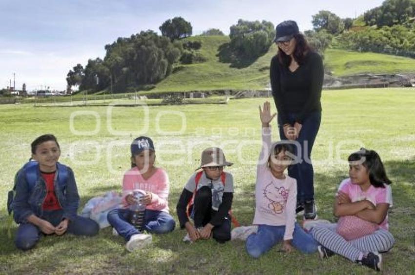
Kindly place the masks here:
<instances>
[{"instance_id":1,"label":"pink t-shirt of the girl with crossed arms","mask_svg":"<svg viewBox=\"0 0 415 275\"><path fill-rule=\"evenodd\" d=\"M367 199L377 205L379 203L388 203L389 207L392 207L392 190L391 186L384 184L385 188L374 187L371 185L368 190L362 191L359 185L353 184L350 178L343 180L340 183L338 191L346 193L352 202ZM379 224L380 228L389 230L388 214L385 219Z\"/></svg>"}]
</instances>

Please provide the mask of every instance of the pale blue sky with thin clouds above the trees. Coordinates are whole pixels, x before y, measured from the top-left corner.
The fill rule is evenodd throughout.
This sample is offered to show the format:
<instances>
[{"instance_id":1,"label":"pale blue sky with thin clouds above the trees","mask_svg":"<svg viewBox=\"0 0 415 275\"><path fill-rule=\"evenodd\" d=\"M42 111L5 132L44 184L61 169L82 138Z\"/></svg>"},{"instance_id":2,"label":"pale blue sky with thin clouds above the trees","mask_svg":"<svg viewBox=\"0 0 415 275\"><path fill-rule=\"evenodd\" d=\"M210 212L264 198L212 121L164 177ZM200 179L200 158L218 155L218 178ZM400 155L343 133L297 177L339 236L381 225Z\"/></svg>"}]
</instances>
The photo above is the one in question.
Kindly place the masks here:
<instances>
[{"instance_id":1,"label":"pale blue sky with thin clouds above the trees","mask_svg":"<svg viewBox=\"0 0 415 275\"><path fill-rule=\"evenodd\" d=\"M312 28L311 16L329 10L341 18L360 15L382 0L0 0L0 88L26 83L29 91L63 90L77 63L104 58L104 45L142 30L159 32L181 16L193 35L209 28L229 33L238 19L274 25L296 20Z\"/></svg>"}]
</instances>

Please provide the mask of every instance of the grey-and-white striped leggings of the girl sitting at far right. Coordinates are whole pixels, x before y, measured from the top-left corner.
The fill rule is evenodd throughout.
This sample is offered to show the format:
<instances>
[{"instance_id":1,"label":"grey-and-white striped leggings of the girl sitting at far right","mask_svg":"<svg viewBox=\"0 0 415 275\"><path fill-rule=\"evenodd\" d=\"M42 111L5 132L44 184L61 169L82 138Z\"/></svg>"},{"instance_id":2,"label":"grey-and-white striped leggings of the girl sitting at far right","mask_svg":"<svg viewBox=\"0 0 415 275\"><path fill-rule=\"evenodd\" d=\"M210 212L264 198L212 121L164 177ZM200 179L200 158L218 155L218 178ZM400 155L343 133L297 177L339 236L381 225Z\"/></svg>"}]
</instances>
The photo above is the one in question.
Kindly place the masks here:
<instances>
[{"instance_id":1,"label":"grey-and-white striped leggings of the girl sitting at far right","mask_svg":"<svg viewBox=\"0 0 415 275\"><path fill-rule=\"evenodd\" d=\"M395 239L389 231L378 229L373 234L351 241L336 233L337 224L316 226L311 229L311 236L324 247L351 261L361 260L368 252L387 252L394 245Z\"/></svg>"}]
</instances>

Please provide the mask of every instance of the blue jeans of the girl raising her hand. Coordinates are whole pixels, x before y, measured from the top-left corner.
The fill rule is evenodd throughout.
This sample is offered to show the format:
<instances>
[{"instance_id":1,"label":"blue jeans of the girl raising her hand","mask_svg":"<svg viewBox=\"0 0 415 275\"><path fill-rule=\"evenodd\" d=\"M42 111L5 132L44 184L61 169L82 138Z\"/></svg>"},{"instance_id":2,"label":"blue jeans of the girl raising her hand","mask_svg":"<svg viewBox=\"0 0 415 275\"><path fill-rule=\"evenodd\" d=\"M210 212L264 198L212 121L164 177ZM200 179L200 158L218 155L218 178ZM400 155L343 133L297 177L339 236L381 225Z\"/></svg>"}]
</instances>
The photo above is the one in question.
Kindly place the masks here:
<instances>
[{"instance_id":1,"label":"blue jeans of the girl raising her hand","mask_svg":"<svg viewBox=\"0 0 415 275\"><path fill-rule=\"evenodd\" d=\"M269 251L276 243L283 241L285 225L273 226L261 224L258 232L251 234L245 244L247 252L254 258ZM317 251L318 243L310 234L307 234L297 223L291 240L292 246L302 253L313 253Z\"/></svg>"}]
</instances>

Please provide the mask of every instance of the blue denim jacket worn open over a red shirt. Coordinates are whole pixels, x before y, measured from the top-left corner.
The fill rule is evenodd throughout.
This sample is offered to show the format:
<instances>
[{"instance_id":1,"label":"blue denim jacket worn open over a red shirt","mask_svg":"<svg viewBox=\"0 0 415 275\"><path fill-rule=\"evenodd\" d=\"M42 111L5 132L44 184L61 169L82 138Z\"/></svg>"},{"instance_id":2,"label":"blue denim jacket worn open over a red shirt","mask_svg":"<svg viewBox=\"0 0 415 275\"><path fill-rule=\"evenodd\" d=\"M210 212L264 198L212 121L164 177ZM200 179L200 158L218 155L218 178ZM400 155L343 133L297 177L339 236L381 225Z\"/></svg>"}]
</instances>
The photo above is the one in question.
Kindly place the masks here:
<instances>
[{"instance_id":1,"label":"blue denim jacket worn open over a red shirt","mask_svg":"<svg viewBox=\"0 0 415 275\"><path fill-rule=\"evenodd\" d=\"M56 170L54 179L55 194L62 207L63 218L73 220L77 216L79 206L79 195L75 177L72 169L67 167L67 179L64 182L58 182L58 170ZM46 182L40 176L40 171L38 175L39 177L31 190L26 181L24 169L17 177L16 196L13 200L13 215L16 223L26 223L27 218L31 215L42 217L42 204L46 197Z\"/></svg>"}]
</instances>

